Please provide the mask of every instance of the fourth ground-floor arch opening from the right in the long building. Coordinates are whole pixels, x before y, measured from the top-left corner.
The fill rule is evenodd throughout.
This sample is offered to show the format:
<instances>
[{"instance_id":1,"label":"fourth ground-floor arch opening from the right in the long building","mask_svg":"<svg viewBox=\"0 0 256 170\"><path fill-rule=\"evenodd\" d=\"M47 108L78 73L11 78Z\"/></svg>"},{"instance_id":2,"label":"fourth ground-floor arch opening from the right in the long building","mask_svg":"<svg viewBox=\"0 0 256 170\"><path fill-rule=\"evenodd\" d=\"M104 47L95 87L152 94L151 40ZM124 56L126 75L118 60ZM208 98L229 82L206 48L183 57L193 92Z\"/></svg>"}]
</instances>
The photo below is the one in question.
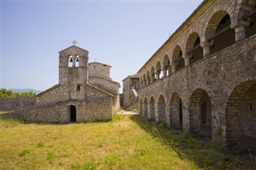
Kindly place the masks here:
<instances>
[{"instance_id":1,"label":"fourth ground-floor arch opening from the right in the long building","mask_svg":"<svg viewBox=\"0 0 256 170\"><path fill-rule=\"evenodd\" d=\"M165 100L165 97L163 95L160 95L158 97L158 107L157 107L156 121L158 123L166 122L166 100Z\"/></svg>"}]
</instances>

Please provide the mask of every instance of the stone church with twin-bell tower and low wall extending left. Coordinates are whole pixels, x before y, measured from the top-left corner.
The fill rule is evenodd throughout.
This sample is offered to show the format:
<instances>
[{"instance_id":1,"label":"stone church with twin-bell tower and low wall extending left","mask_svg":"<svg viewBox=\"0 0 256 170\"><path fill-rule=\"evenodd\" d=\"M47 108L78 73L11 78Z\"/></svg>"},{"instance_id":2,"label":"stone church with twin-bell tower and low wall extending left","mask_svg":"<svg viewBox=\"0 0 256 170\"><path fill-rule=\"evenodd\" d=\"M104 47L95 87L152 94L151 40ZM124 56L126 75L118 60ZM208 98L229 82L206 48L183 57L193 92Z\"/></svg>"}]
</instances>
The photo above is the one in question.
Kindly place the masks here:
<instances>
[{"instance_id":1,"label":"stone church with twin-bell tower and low wall extending left","mask_svg":"<svg viewBox=\"0 0 256 170\"><path fill-rule=\"evenodd\" d=\"M3 117L59 123L111 120L119 108L120 85L111 80L110 65L88 64L88 53L75 45L60 51L58 85L35 97L1 99L1 110L14 110Z\"/></svg>"}]
</instances>

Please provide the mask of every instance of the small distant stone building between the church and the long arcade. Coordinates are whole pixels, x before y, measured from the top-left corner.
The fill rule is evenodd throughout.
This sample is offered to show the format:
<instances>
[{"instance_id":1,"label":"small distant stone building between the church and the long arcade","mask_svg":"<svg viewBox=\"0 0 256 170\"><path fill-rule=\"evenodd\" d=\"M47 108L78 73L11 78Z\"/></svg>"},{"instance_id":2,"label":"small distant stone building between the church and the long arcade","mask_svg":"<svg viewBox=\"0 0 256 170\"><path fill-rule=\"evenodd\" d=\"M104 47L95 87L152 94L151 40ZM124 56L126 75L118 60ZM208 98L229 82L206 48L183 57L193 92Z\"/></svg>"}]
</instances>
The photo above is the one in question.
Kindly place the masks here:
<instances>
[{"instance_id":1,"label":"small distant stone building between the church and the long arcade","mask_svg":"<svg viewBox=\"0 0 256 170\"><path fill-rule=\"evenodd\" d=\"M124 109L138 109L138 89L140 88L138 74L130 75L122 80L122 100Z\"/></svg>"}]
</instances>

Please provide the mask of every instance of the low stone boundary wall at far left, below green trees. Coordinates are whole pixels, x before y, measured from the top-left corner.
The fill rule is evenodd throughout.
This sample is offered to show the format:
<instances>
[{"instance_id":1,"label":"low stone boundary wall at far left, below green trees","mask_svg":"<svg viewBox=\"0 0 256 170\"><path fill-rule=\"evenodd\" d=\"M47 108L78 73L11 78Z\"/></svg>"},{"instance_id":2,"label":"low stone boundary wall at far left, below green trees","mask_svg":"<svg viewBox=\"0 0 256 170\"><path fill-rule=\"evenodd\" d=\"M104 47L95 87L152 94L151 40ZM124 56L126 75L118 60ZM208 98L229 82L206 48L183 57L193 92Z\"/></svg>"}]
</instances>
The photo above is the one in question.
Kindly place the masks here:
<instances>
[{"instance_id":1,"label":"low stone boundary wall at far left, below green trees","mask_svg":"<svg viewBox=\"0 0 256 170\"><path fill-rule=\"evenodd\" d=\"M2 111L29 109L35 105L35 97L0 98L0 110Z\"/></svg>"}]
</instances>

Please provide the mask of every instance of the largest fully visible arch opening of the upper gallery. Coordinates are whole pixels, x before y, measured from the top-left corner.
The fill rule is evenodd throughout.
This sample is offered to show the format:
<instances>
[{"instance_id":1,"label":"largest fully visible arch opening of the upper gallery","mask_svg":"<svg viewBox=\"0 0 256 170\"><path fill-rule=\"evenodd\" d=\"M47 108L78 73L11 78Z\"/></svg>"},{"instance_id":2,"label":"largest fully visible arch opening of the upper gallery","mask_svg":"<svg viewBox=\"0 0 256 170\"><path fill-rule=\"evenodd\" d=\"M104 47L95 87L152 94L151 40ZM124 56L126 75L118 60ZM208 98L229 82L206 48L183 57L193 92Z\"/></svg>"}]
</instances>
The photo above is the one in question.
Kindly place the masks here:
<instances>
[{"instance_id":1,"label":"largest fully visible arch opening of the upper gallery","mask_svg":"<svg viewBox=\"0 0 256 170\"><path fill-rule=\"evenodd\" d=\"M231 29L231 17L226 10L216 11L206 24L205 44L210 45L209 53L216 53L235 43Z\"/></svg>"}]
</instances>

